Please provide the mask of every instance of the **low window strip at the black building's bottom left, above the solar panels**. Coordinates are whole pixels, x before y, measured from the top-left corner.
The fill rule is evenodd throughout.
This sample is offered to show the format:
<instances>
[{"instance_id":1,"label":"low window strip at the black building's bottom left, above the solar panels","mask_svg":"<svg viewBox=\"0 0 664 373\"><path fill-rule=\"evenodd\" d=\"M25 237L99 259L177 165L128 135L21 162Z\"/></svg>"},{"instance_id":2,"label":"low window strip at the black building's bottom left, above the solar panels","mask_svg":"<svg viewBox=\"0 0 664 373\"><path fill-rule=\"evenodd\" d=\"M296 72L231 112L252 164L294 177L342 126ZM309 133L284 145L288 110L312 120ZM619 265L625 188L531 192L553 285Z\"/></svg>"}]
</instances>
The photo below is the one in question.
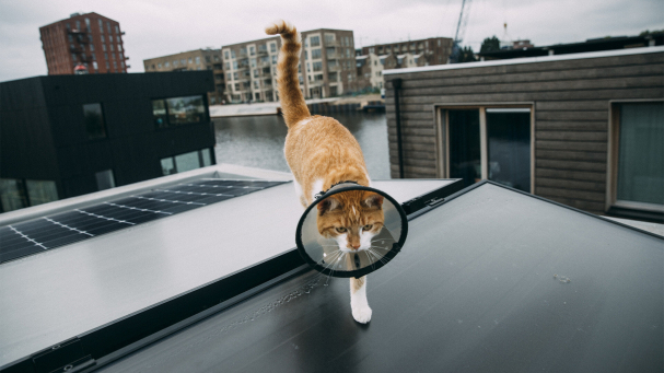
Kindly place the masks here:
<instances>
[{"instance_id":1,"label":"low window strip at the black building's bottom left, above the solar panels","mask_svg":"<svg viewBox=\"0 0 664 373\"><path fill-rule=\"evenodd\" d=\"M8 212L58 200L53 180L0 178L0 211Z\"/></svg>"}]
</instances>

